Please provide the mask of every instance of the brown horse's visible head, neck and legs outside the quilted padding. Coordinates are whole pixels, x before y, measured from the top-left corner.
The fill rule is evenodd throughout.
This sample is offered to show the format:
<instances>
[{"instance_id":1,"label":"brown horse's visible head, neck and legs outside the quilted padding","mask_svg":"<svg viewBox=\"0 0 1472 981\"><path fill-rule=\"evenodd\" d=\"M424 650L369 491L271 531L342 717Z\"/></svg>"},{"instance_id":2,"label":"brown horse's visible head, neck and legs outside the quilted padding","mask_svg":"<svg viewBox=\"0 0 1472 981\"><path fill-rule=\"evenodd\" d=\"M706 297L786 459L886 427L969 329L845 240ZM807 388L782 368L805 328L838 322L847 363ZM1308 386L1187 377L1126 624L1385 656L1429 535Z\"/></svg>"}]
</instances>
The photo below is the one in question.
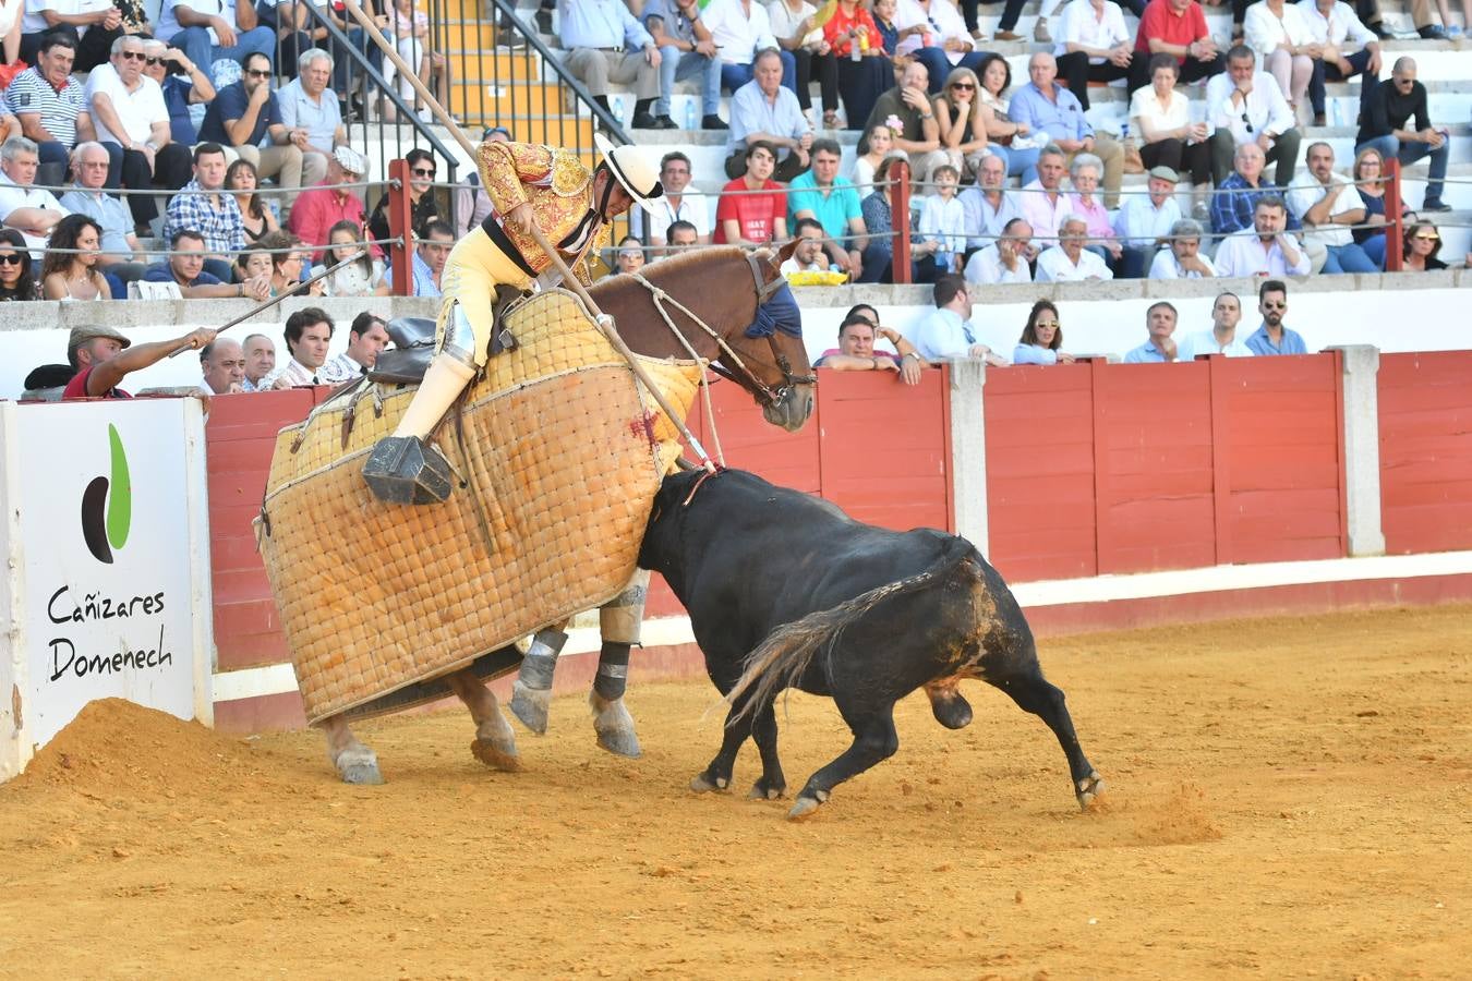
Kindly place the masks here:
<instances>
[{"instance_id":1,"label":"brown horse's visible head, neck and legs outside the quilted padding","mask_svg":"<svg viewBox=\"0 0 1472 981\"><path fill-rule=\"evenodd\" d=\"M802 337L793 332L798 328L792 322L796 304L777 272L790 253L792 246L779 253L746 253L736 247L702 249L649 265L637 275L611 277L592 287L590 293L604 313L614 318L620 335L633 352L686 359L693 350L696 356L711 362L712 371L752 393L768 422L795 431L813 413L815 379ZM773 327L773 310L785 310L785 322ZM620 607L615 622L630 616L637 622L643 610L642 588L631 588L612 600L609 607L614 606ZM623 637L609 638L609 618L605 616L604 624L599 669L602 675L617 675L620 688L617 697L606 697L596 687L590 693L593 727L601 746L637 756L633 719L621 696L620 663L627 665L630 643ZM537 644L546 644L551 638L565 640L562 627L555 624L540 631L533 652L539 650ZM561 644L551 644L555 659ZM521 765L511 724L484 682L512 671L520 660L521 653L515 647L506 647L486 654L475 668L456 671L446 678L475 722L471 752L496 769L512 771ZM551 685L551 677L548 684ZM518 716L527 721L521 712ZM321 725L327 735L328 757L346 782L383 781L377 755L352 734L346 713L327 718ZM528 725L533 731L543 731L545 710L542 728L536 721Z\"/></svg>"}]
</instances>

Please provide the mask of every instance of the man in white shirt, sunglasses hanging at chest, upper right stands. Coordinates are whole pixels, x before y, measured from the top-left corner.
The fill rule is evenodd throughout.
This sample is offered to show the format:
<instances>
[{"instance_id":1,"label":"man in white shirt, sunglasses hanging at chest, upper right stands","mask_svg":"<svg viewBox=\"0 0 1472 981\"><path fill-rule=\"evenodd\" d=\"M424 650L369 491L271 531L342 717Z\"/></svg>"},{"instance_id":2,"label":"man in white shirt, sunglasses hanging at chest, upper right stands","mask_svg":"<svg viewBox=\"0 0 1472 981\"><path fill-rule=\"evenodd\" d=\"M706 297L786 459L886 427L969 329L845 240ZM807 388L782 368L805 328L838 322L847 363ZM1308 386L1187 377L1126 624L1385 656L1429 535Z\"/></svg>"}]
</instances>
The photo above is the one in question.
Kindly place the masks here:
<instances>
[{"instance_id":1,"label":"man in white shirt, sunglasses hanging at chest, upper right stands","mask_svg":"<svg viewBox=\"0 0 1472 981\"><path fill-rule=\"evenodd\" d=\"M1207 122L1211 134L1211 178L1216 184L1232 172L1236 147L1256 143L1269 163L1276 163L1273 175L1279 187L1292 182L1298 166L1301 134L1282 88L1267 72L1257 71L1257 56L1245 44L1226 53L1226 71L1206 84Z\"/></svg>"}]
</instances>

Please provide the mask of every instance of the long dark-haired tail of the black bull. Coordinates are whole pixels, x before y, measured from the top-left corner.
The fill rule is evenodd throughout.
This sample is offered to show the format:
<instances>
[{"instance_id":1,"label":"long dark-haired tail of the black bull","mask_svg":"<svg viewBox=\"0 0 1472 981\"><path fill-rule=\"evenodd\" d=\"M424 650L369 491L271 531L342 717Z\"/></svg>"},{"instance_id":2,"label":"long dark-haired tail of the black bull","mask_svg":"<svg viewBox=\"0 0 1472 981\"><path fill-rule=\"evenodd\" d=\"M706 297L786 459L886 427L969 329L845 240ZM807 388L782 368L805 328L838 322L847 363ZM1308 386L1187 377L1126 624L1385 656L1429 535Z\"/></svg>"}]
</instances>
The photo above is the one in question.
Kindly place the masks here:
<instances>
[{"instance_id":1,"label":"long dark-haired tail of the black bull","mask_svg":"<svg viewBox=\"0 0 1472 981\"><path fill-rule=\"evenodd\" d=\"M735 706L742 694L751 691L751 699L732 721L755 712L757 706L767 704L783 688L793 687L817 653L827 649L832 654L833 644L842 637L843 629L860 616L886 600L908 596L930 585L966 562L972 553L970 541L952 537L941 557L924 572L874 587L833 609L808 613L799 621L783 624L771 631L767 640L746 656L740 679L726 694L726 704Z\"/></svg>"}]
</instances>

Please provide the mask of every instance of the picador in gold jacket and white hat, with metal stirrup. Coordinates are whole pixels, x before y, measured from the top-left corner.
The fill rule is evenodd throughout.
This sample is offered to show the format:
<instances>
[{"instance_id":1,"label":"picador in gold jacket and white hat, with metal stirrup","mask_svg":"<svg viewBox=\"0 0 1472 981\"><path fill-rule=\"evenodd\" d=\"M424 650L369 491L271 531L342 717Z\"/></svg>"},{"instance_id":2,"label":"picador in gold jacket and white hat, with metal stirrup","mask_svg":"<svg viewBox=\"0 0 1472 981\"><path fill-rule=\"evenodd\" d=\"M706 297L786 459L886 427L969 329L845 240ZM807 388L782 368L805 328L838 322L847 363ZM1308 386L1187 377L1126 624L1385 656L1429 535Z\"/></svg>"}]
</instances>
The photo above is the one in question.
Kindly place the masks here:
<instances>
[{"instance_id":1,"label":"picador in gold jacket and white hat, with metal stirrup","mask_svg":"<svg viewBox=\"0 0 1472 981\"><path fill-rule=\"evenodd\" d=\"M614 147L602 134L593 141L604 159L592 172L571 150L530 143L480 146L480 179L493 207L450 253L434 360L399 427L364 466L378 500L430 504L449 496L449 462L425 440L486 359L508 344L496 331L498 291L549 287L559 278L533 237L533 225L587 284L587 256L608 244L609 222L664 194L659 165L648 150Z\"/></svg>"}]
</instances>

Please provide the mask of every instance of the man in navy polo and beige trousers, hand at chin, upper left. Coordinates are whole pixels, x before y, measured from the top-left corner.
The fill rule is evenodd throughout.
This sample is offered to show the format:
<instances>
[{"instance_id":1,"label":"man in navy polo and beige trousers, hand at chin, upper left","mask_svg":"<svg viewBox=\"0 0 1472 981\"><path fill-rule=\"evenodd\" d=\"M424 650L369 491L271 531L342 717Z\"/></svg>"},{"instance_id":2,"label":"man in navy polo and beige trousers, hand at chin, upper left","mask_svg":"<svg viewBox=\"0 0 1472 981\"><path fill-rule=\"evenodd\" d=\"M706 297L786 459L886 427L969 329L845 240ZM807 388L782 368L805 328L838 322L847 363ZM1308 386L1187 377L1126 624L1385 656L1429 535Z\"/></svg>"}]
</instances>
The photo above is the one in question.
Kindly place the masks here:
<instances>
[{"instance_id":1,"label":"man in navy polo and beige trousers, hand at chin, upper left","mask_svg":"<svg viewBox=\"0 0 1472 981\"><path fill-rule=\"evenodd\" d=\"M321 182L327 157L303 154L281 118L281 103L271 91L271 59L250 53L240 62L240 81L219 90L205 110L199 137L230 147L256 168L259 179L277 178L287 190ZM294 201L289 199L289 204Z\"/></svg>"}]
</instances>

